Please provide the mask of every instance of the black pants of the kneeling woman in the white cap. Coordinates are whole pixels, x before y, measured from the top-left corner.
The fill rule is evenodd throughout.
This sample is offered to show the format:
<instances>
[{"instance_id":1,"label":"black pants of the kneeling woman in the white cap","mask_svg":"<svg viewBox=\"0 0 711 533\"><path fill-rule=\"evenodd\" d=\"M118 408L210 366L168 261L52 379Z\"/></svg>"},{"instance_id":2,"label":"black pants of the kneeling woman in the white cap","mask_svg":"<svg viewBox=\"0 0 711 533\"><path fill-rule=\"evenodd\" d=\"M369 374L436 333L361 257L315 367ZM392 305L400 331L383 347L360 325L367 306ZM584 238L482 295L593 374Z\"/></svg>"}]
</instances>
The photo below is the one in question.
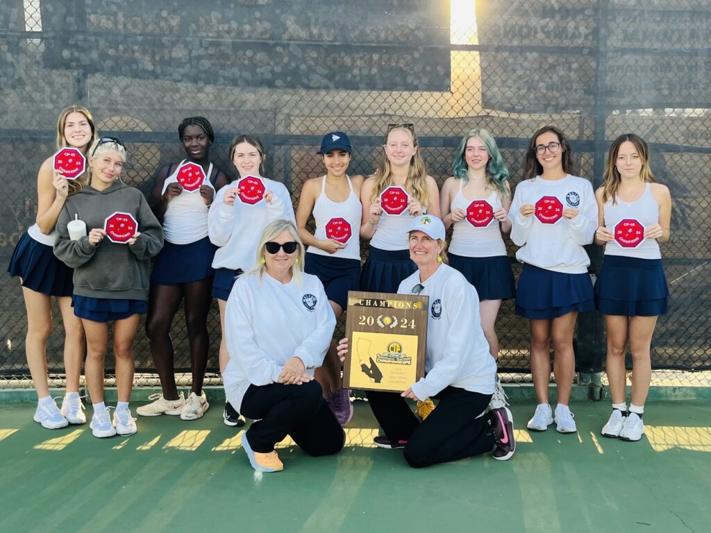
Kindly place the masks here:
<instances>
[{"instance_id":1,"label":"black pants of the kneeling woman in the white cap","mask_svg":"<svg viewBox=\"0 0 711 533\"><path fill-rule=\"evenodd\" d=\"M483 415L491 394L447 387L437 394L437 409L420 423L395 392L368 392L375 418L391 443L407 441L405 461L415 468L478 456L493 449L489 417Z\"/></svg>"}]
</instances>

